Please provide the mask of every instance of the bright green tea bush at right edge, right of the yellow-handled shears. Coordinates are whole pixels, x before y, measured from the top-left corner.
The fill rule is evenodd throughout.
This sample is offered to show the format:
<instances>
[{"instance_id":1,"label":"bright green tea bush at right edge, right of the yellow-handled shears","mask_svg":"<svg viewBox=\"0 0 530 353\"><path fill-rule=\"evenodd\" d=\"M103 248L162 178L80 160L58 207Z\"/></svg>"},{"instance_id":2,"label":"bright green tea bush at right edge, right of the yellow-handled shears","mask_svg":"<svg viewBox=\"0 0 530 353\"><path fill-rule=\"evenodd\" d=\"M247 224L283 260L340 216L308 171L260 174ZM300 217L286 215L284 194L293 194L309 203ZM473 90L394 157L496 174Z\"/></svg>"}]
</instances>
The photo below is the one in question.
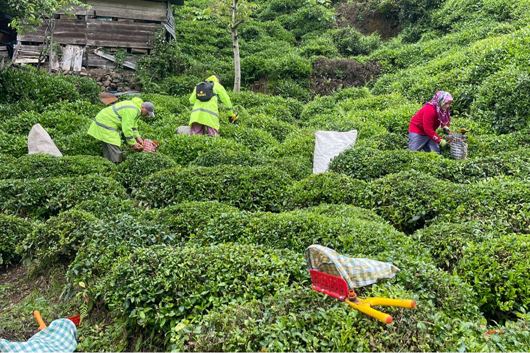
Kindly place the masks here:
<instances>
[{"instance_id":1,"label":"bright green tea bush at right edge, right of the yellow-handled shears","mask_svg":"<svg viewBox=\"0 0 530 353\"><path fill-rule=\"evenodd\" d=\"M495 222L496 223L496 222ZM509 318L530 303L530 236L503 233L483 222L435 224L414 233L438 265L473 286L482 312Z\"/></svg>"}]
</instances>

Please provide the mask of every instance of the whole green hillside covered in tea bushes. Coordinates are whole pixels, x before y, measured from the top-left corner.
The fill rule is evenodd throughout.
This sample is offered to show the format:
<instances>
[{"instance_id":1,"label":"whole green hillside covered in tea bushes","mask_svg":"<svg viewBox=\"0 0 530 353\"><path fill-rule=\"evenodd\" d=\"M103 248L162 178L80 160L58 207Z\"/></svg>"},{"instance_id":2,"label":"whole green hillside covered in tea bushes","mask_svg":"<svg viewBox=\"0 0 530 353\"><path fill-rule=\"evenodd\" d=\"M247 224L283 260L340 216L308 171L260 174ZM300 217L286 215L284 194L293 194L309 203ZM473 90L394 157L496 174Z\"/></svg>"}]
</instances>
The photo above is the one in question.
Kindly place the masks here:
<instances>
[{"instance_id":1,"label":"whole green hillside covered in tea bushes","mask_svg":"<svg viewBox=\"0 0 530 353\"><path fill-rule=\"evenodd\" d=\"M175 7L136 82L157 153L104 159L91 79L0 71L0 338L80 313L78 351L530 351L530 1L259 0L232 42L211 2ZM376 23L390 28L368 33ZM384 27L387 25L387 27ZM177 135L219 74L237 124ZM465 160L407 152L437 90ZM64 157L28 155L33 124ZM314 131L358 130L312 174ZM401 271L383 325L311 289L320 244Z\"/></svg>"}]
</instances>

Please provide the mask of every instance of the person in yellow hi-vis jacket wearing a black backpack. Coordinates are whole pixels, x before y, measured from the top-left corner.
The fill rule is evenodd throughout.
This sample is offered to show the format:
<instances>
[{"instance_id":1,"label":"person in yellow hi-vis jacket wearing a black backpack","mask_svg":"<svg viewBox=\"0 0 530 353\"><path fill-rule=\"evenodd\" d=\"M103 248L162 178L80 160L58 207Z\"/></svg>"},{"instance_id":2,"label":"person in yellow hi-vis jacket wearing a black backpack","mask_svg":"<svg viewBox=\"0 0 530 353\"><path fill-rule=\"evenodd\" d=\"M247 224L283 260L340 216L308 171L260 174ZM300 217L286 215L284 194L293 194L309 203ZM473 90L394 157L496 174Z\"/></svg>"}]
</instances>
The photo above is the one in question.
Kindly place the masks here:
<instances>
[{"instance_id":1,"label":"person in yellow hi-vis jacket wearing a black backpack","mask_svg":"<svg viewBox=\"0 0 530 353\"><path fill-rule=\"evenodd\" d=\"M208 135L219 136L217 98L223 102L227 111L232 112L232 102L225 88L219 83L219 76L210 76L195 87L190 96L191 135L202 135L206 132ZM233 123L236 119L237 116L232 114L228 121Z\"/></svg>"}]
</instances>

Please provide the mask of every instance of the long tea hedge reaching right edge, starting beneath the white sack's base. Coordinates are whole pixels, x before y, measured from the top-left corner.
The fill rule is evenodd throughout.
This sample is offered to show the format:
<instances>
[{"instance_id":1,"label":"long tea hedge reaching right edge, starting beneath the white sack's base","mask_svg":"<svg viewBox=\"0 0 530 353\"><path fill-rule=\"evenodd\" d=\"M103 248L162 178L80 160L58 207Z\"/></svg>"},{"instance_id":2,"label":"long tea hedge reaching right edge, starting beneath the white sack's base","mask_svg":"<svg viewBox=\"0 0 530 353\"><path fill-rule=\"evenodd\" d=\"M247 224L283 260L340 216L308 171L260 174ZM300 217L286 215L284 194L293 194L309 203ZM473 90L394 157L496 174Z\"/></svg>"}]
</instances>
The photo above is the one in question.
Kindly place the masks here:
<instances>
[{"instance_id":1,"label":"long tea hedge reaching right edge, starting beneath the white sack's base","mask_svg":"<svg viewBox=\"0 0 530 353\"><path fill-rule=\"evenodd\" d=\"M317 174L295 182L290 193L290 207L351 203L374 209L398 229L410 229L437 217L461 221L513 216L529 200L530 188L528 182L510 178L454 184L411 170L369 183L333 172Z\"/></svg>"}]
</instances>

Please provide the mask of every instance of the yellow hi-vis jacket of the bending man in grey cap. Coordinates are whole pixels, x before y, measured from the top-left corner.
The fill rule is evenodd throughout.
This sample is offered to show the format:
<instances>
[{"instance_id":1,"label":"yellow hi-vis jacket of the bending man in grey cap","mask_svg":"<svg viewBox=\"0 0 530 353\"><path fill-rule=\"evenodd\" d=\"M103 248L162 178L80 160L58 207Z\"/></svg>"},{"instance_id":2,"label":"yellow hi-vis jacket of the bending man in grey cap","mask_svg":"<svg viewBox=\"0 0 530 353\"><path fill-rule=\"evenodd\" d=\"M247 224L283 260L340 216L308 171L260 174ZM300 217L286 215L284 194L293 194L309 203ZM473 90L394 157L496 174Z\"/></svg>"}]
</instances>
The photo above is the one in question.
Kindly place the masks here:
<instances>
[{"instance_id":1,"label":"yellow hi-vis jacket of the bending man in grey cap","mask_svg":"<svg viewBox=\"0 0 530 353\"><path fill-rule=\"evenodd\" d=\"M138 133L138 120L142 114L142 104L144 102L138 97L130 101L123 101L104 108L96 115L90 125L88 134L92 137L121 146L120 132L125 135L125 140L129 146L136 144Z\"/></svg>"}]
</instances>

